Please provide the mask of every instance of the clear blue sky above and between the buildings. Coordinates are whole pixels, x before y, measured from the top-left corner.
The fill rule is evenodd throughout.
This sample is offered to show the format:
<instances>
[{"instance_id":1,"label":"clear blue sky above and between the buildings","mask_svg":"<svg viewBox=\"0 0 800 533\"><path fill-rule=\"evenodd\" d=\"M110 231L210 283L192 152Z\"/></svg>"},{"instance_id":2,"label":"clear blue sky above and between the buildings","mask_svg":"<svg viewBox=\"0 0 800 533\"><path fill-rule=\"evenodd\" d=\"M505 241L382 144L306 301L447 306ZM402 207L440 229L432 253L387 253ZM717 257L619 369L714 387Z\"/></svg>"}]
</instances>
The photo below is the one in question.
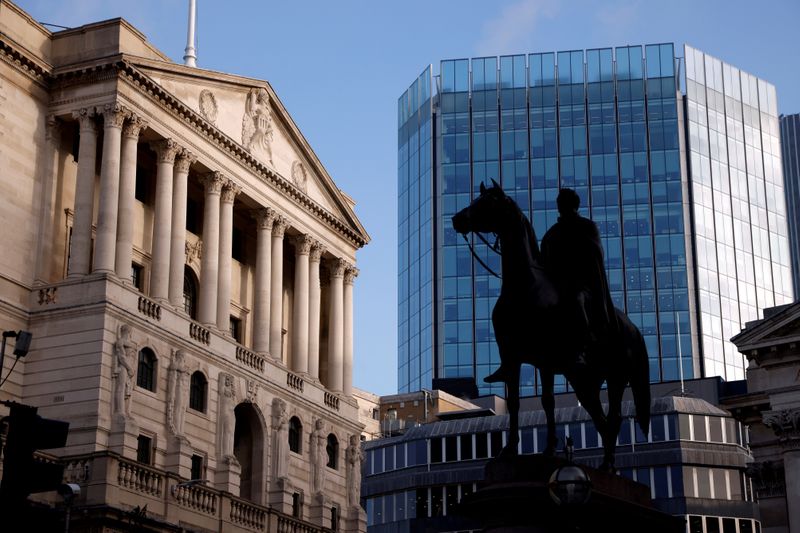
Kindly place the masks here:
<instances>
[{"instance_id":1,"label":"clear blue sky above and between the buildings","mask_svg":"<svg viewBox=\"0 0 800 533\"><path fill-rule=\"evenodd\" d=\"M40 22L122 17L183 62L188 0L18 0ZM372 241L357 253L353 384L397 391L397 99L443 59L674 42L800 113L797 0L197 0L197 64L270 82ZM57 30L57 28L52 28Z\"/></svg>"}]
</instances>

